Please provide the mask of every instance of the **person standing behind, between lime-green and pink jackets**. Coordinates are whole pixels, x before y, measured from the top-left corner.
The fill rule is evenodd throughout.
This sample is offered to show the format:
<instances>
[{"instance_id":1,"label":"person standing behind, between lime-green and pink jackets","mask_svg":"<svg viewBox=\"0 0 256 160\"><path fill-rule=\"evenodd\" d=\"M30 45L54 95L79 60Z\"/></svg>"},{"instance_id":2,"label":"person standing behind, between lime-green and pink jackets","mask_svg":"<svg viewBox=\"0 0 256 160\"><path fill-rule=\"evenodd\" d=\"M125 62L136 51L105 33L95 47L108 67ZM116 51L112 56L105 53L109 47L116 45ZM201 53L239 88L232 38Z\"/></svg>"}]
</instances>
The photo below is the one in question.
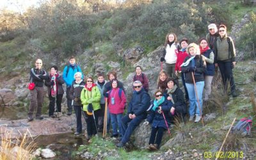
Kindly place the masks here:
<instances>
[{"instance_id":1,"label":"person standing behind, between lime-green and pink jackets","mask_svg":"<svg viewBox=\"0 0 256 160\"><path fill-rule=\"evenodd\" d=\"M103 121L104 121L104 111L105 111L105 97L103 95L104 89L105 89L105 85L106 85L106 81L104 79L104 74L98 74L98 81L95 83L97 84L97 87L100 90L100 114L98 117L98 125L99 125L99 132L102 132L103 130Z\"/></svg>"}]
</instances>

